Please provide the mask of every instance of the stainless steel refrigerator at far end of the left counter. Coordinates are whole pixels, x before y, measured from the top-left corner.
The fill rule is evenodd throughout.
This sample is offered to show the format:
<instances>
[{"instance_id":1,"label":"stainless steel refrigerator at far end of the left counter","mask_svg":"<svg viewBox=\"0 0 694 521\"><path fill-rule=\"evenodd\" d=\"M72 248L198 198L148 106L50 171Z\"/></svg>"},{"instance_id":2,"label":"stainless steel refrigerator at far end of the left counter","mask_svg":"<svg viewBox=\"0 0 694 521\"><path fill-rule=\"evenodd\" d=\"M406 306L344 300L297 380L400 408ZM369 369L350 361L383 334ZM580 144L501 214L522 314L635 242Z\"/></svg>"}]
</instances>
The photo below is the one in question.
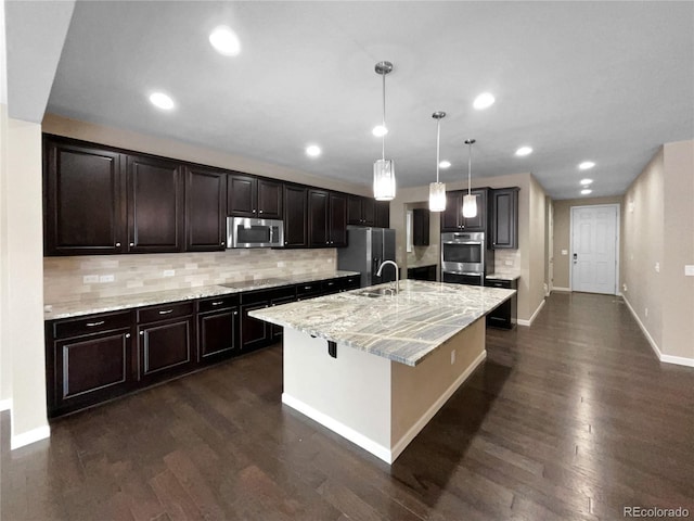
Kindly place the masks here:
<instances>
[{"instance_id":1,"label":"stainless steel refrigerator at far end of the left counter","mask_svg":"<svg viewBox=\"0 0 694 521\"><path fill-rule=\"evenodd\" d=\"M359 271L361 288L395 280L395 267L385 266L376 277L384 260L395 262L395 230L390 228L347 227L347 247L337 249L337 269Z\"/></svg>"}]
</instances>

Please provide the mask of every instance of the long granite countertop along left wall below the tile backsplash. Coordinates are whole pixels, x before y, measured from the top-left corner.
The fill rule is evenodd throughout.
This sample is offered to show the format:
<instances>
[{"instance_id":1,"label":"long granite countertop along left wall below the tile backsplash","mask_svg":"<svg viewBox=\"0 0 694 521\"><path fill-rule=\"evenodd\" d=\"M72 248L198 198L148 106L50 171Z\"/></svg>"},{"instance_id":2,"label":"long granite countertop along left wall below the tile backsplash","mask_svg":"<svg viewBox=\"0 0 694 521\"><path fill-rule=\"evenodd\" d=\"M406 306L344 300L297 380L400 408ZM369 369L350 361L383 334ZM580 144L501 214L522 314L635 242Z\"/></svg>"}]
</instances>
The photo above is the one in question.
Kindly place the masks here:
<instances>
[{"instance_id":1,"label":"long granite countertop along left wall below the tile backsplash","mask_svg":"<svg viewBox=\"0 0 694 521\"><path fill-rule=\"evenodd\" d=\"M282 285L301 284L318 280L335 279L360 275L358 271L324 271L318 274L290 275L272 279L257 279L248 281L229 282L227 285L203 285L198 288L183 288L179 290L154 291L136 293L132 295L110 296L89 301L73 301L60 303L47 303L43 319L56 320L59 318L78 317L93 313L107 313L132 307L166 304L167 302L191 301L206 296L219 296L244 291L266 290Z\"/></svg>"}]
</instances>

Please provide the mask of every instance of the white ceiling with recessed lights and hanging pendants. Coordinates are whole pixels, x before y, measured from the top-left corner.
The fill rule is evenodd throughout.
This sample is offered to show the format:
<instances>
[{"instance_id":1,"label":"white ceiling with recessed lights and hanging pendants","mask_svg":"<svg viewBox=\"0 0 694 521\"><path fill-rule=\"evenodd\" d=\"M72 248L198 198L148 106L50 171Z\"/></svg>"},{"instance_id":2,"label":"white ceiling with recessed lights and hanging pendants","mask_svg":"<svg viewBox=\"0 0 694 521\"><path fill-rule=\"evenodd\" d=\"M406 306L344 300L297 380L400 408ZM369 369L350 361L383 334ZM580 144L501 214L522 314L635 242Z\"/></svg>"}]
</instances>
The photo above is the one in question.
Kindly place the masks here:
<instances>
[{"instance_id":1,"label":"white ceiling with recessed lights and hanging pendants","mask_svg":"<svg viewBox=\"0 0 694 521\"><path fill-rule=\"evenodd\" d=\"M236 58L208 43L221 24ZM382 60L400 187L434 180L435 111L444 181L466 174L476 138L474 177L531 171L555 199L587 176L592 195L624 193L661 143L694 138L691 1L78 1L48 112L367 186ZM153 107L152 90L177 109ZM475 111L483 91L497 103ZM515 157L524 144L535 153Z\"/></svg>"}]
</instances>

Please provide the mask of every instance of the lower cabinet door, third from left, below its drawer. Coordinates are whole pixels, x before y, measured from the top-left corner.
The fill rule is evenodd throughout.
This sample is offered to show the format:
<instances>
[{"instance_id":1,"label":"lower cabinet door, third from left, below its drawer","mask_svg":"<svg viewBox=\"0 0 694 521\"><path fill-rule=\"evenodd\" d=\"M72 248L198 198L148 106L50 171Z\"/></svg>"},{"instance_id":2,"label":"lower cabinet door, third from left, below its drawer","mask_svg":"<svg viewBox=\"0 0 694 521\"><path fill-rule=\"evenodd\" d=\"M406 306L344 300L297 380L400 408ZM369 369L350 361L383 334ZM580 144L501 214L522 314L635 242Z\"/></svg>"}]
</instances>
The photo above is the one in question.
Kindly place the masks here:
<instances>
[{"instance_id":1,"label":"lower cabinet door, third from left, below its drawer","mask_svg":"<svg viewBox=\"0 0 694 521\"><path fill-rule=\"evenodd\" d=\"M198 357L217 361L239 352L239 307L197 316Z\"/></svg>"}]
</instances>

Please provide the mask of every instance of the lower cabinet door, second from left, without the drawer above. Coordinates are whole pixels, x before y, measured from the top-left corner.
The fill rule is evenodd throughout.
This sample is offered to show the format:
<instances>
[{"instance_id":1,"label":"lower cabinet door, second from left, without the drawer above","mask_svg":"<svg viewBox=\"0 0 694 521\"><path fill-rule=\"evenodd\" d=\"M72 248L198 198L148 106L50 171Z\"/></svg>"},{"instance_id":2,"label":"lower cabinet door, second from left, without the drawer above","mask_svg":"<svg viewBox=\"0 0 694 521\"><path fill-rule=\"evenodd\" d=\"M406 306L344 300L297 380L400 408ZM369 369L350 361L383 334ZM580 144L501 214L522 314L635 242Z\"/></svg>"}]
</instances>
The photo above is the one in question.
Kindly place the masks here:
<instances>
[{"instance_id":1,"label":"lower cabinet door, second from left, without the drawer above","mask_svg":"<svg viewBox=\"0 0 694 521\"><path fill-rule=\"evenodd\" d=\"M139 378L149 383L187 372L193 365L193 317L138 326Z\"/></svg>"}]
</instances>

